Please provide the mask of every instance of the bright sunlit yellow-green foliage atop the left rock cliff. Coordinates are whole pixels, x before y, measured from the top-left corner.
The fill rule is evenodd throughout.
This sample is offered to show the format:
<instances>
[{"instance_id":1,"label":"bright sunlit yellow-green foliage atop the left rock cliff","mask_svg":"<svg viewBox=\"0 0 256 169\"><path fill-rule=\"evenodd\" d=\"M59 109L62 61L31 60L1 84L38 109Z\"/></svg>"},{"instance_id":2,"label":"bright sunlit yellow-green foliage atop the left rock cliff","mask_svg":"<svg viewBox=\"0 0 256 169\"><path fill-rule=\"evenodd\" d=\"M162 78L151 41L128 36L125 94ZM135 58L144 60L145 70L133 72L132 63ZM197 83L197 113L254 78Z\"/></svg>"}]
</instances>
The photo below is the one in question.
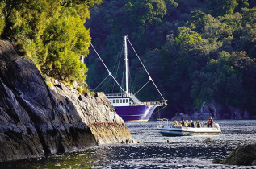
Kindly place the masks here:
<instances>
[{"instance_id":1,"label":"bright sunlit yellow-green foliage atop the left rock cliff","mask_svg":"<svg viewBox=\"0 0 256 169\"><path fill-rule=\"evenodd\" d=\"M41 72L58 80L86 80L79 58L90 47L89 6L101 0L4 0L0 2L0 34L23 47L20 54L33 60ZM5 24L2 24L5 23ZM19 45L20 46L20 45Z\"/></svg>"}]
</instances>

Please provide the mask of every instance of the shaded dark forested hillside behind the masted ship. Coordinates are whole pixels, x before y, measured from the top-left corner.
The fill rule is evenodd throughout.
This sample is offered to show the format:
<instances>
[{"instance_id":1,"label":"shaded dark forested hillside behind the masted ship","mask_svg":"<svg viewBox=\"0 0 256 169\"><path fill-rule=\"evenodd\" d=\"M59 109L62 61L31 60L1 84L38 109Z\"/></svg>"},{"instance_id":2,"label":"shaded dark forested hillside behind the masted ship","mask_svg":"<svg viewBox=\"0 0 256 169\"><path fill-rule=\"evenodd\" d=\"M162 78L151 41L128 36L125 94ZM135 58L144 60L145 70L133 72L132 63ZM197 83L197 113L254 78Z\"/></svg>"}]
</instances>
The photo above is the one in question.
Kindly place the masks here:
<instances>
[{"instance_id":1,"label":"shaded dark forested hillside behind the masted ship","mask_svg":"<svg viewBox=\"0 0 256 169\"><path fill-rule=\"evenodd\" d=\"M254 0L105 0L90 8L85 23L92 43L124 86L123 36L128 35L174 113L193 113L203 103L246 109L256 115L256 1ZM128 52L132 51L129 49ZM149 79L129 53L131 91ZM94 51L86 58L87 83L94 89L107 76ZM119 93L106 80L98 91ZM160 99L153 85L136 95ZM159 97L158 97L159 96Z\"/></svg>"}]
</instances>

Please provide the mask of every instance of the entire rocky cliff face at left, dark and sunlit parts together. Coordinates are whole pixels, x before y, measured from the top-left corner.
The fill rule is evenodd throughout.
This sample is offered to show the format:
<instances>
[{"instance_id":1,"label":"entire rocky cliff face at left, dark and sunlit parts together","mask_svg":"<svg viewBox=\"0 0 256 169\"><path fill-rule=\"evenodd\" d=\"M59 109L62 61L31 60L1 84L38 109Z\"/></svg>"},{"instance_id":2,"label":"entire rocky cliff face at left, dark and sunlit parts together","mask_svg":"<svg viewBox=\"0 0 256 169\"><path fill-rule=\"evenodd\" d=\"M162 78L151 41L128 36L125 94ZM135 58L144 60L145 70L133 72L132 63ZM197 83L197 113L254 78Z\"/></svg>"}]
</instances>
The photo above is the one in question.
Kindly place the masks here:
<instances>
[{"instance_id":1,"label":"entire rocky cliff face at left, dark and sunlit parts together","mask_svg":"<svg viewBox=\"0 0 256 169\"><path fill-rule=\"evenodd\" d=\"M0 40L0 162L120 142L131 135L107 98L48 88L36 66Z\"/></svg>"}]
</instances>

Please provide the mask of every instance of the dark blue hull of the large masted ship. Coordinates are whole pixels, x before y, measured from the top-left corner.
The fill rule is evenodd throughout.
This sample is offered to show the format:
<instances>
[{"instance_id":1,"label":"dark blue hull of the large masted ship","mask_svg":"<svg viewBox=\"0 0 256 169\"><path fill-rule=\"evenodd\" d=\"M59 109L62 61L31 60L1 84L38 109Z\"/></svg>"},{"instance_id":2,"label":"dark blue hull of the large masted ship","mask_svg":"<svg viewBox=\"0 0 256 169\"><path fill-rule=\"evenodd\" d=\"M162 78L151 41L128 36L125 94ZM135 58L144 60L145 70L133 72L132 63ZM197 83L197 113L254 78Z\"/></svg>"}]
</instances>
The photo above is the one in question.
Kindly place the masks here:
<instances>
[{"instance_id":1,"label":"dark blue hull of the large masted ship","mask_svg":"<svg viewBox=\"0 0 256 169\"><path fill-rule=\"evenodd\" d=\"M155 105L115 106L116 113L124 122L148 122L154 109Z\"/></svg>"}]
</instances>

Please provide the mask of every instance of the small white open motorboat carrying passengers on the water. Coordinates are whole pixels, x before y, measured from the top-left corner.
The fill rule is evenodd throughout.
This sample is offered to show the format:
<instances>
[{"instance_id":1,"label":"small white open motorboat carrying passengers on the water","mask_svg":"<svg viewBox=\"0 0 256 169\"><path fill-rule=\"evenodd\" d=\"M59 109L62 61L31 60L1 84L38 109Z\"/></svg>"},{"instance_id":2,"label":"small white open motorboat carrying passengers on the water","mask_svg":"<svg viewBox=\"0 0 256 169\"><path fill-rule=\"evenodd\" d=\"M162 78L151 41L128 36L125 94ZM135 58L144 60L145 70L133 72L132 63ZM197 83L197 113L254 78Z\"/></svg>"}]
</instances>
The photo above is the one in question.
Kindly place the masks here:
<instances>
[{"instance_id":1,"label":"small white open motorboat carrying passengers on the water","mask_svg":"<svg viewBox=\"0 0 256 169\"><path fill-rule=\"evenodd\" d=\"M219 135L221 134L220 126L218 123L213 123L212 127L203 125L200 128L186 127L186 126L173 126L168 124L168 119L157 119L157 130L163 136L192 136L192 135Z\"/></svg>"}]
</instances>

